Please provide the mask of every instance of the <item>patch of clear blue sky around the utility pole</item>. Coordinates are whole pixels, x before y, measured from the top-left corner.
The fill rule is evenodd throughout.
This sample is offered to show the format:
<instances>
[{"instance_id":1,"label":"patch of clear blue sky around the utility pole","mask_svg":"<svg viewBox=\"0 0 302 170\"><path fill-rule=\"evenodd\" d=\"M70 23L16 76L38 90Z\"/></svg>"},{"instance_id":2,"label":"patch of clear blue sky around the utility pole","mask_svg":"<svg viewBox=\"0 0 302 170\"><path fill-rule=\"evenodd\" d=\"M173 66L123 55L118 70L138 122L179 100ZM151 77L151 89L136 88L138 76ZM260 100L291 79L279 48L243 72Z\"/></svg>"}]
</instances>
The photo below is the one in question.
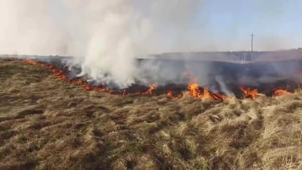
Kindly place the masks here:
<instances>
[{"instance_id":1,"label":"patch of clear blue sky around the utility pole","mask_svg":"<svg viewBox=\"0 0 302 170\"><path fill-rule=\"evenodd\" d=\"M251 32L256 50L298 48L302 47L301 17L302 0L207 0L193 30L207 32L218 50L248 49Z\"/></svg>"}]
</instances>

